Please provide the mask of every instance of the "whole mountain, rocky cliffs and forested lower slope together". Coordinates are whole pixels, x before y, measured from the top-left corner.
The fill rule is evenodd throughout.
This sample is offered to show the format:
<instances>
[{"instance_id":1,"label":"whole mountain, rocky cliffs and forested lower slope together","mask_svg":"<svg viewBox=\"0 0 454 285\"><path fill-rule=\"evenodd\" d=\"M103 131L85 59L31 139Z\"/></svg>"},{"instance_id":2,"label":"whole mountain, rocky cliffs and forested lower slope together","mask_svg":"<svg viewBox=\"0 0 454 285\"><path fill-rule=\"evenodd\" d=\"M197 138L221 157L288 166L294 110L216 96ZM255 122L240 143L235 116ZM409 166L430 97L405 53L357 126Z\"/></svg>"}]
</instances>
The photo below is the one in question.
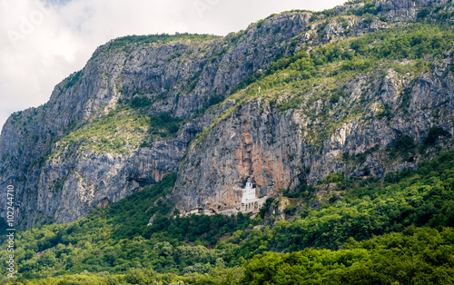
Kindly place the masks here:
<instances>
[{"instance_id":1,"label":"whole mountain, rocky cliffs and forested lower slope together","mask_svg":"<svg viewBox=\"0 0 454 285\"><path fill-rule=\"evenodd\" d=\"M15 281L453 283L453 27L352 1L100 46L0 135Z\"/></svg>"}]
</instances>

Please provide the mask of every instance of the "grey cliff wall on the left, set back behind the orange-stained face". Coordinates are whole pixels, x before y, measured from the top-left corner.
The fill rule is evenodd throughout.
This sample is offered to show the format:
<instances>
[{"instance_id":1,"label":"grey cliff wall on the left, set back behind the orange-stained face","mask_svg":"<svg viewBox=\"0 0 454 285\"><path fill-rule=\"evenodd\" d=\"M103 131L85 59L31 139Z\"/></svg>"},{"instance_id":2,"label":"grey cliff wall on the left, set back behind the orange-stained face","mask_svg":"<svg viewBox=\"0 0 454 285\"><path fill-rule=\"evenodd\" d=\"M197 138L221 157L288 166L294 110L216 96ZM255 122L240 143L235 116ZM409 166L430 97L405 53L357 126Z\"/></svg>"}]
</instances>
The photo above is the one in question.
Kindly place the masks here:
<instances>
[{"instance_id":1,"label":"grey cliff wall on the left, set back behind the orange-stained face","mask_svg":"<svg viewBox=\"0 0 454 285\"><path fill-rule=\"evenodd\" d=\"M175 172L212 117L198 114L286 53L310 16L275 15L224 38L126 37L98 48L82 71L55 87L48 103L5 123L0 180L15 181L19 221L27 227L74 221L99 201L117 201L140 183ZM121 103L133 98L140 112ZM149 135L153 126L141 118L160 113L181 121L178 133ZM121 147L113 148L114 140Z\"/></svg>"}]
</instances>

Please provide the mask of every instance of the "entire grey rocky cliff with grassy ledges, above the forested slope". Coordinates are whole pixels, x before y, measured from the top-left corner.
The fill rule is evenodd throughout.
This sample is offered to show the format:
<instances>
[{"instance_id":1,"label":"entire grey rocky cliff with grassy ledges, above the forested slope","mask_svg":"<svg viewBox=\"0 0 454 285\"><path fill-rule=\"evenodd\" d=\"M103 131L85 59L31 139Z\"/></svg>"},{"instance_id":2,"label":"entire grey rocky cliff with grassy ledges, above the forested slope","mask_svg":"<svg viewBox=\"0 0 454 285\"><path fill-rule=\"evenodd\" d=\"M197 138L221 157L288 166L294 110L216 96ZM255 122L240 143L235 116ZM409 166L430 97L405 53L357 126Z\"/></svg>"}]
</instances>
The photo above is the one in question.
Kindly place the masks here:
<instances>
[{"instance_id":1,"label":"entire grey rocky cliff with grassy ledges, above the forested slope","mask_svg":"<svg viewBox=\"0 0 454 285\"><path fill-rule=\"evenodd\" d=\"M74 221L169 172L179 172L181 211L218 211L238 205L248 177L271 196L331 172L414 167L452 147L451 51L361 65L349 44L451 12L446 1L350 3L271 15L225 37L113 40L48 103L8 119L0 181L15 182L21 227L32 227ZM333 45L343 55L331 58ZM391 152L401 137L427 147Z\"/></svg>"}]
</instances>

